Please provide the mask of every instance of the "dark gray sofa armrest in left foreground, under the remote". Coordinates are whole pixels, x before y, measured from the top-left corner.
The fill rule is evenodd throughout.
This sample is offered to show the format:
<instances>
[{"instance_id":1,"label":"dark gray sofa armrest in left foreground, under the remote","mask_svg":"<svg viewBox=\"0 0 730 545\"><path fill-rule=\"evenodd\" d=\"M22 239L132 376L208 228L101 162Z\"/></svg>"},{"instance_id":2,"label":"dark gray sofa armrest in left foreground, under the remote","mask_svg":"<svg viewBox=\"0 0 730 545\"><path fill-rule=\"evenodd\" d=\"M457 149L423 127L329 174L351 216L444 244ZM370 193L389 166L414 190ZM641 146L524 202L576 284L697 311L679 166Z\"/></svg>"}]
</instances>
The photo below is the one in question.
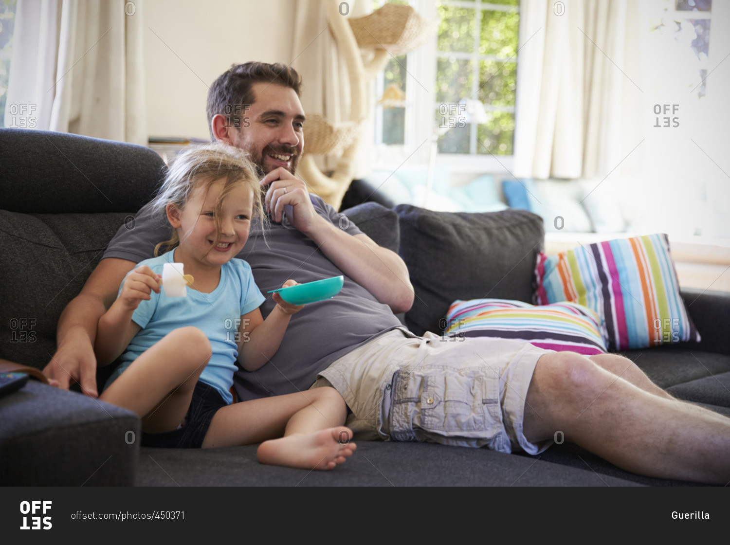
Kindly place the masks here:
<instances>
[{"instance_id":1,"label":"dark gray sofa armrest in left foreground, under the remote","mask_svg":"<svg viewBox=\"0 0 730 545\"><path fill-rule=\"evenodd\" d=\"M28 380L0 398L0 484L132 486L140 433L131 411Z\"/></svg>"}]
</instances>

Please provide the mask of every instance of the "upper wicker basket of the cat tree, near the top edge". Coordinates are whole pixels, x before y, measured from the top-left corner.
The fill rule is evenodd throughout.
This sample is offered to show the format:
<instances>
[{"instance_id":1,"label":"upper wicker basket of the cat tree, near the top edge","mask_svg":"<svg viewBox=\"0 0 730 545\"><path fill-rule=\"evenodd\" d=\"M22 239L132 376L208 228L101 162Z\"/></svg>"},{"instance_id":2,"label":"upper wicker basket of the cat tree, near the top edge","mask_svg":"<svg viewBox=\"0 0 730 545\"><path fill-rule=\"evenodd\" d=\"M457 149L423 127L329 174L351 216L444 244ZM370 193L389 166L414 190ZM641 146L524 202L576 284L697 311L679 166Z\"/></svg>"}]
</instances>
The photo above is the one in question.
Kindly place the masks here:
<instances>
[{"instance_id":1,"label":"upper wicker basket of the cat tree, near the top edge","mask_svg":"<svg viewBox=\"0 0 730 545\"><path fill-rule=\"evenodd\" d=\"M410 6L385 4L365 17L347 20L361 49L385 49L403 55L430 39L439 21L427 21Z\"/></svg>"}]
</instances>

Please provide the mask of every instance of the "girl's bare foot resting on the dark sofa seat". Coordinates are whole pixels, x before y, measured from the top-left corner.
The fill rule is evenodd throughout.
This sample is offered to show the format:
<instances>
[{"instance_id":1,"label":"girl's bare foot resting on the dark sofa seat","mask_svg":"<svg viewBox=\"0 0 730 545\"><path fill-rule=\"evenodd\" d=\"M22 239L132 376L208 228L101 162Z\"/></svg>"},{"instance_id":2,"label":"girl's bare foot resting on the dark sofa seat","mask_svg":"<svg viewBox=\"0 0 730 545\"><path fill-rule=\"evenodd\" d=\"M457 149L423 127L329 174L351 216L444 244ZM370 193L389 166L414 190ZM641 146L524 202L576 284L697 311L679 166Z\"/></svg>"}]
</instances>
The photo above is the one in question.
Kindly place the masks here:
<instances>
[{"instance_id":1,"label":"girl's bare foot resting on the dark sofa seat","mask_svg":"<svg viewBox=\"0 0 730 545\"><path fill-rule=\"evenodd\" d=\"M258 461L290 468L334 469L353 455L356 444L350 443L353 432L339 426L315 433L293 433L264 441L256 451Z\"/></svg>"}]
</instances>

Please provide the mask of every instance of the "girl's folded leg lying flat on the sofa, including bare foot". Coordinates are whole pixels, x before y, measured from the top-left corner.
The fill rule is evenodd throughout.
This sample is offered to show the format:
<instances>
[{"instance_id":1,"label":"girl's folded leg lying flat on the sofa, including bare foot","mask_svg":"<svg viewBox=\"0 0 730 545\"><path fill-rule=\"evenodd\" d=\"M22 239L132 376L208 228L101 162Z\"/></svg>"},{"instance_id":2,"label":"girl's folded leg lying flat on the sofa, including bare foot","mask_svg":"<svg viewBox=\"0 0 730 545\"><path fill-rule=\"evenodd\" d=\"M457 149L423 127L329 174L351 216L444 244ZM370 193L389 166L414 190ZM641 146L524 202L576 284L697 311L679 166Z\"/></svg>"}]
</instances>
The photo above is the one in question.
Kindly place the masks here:
<instances>
[{"instance_id":1,"label":"girl's folded leg lying flat on the sofa, including bare foot","mask_svg":"<svg viewBox=\"0 0 730 545\"><path fill-rule=\"evenodd\" d=\"M203 447L263 441L261 463L332 469L356 449L352 431L342 425L346 417L345 401L330 387L243 401L215 413Z\"/></svg>"}]
</instances>

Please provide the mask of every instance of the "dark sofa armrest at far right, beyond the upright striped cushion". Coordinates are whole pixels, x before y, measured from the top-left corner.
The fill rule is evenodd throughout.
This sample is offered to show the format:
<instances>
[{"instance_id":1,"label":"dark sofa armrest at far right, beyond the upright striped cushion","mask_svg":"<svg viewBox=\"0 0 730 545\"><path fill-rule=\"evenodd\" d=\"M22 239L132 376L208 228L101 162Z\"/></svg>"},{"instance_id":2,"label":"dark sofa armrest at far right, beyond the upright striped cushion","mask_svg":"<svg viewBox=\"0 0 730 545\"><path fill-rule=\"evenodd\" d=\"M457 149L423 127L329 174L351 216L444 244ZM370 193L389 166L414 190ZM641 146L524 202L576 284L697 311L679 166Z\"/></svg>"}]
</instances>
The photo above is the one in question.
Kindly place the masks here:
<instances>
[{"instance_id":1,"label":"dark sofa armrest at far right, beyond the upright striped cushion","mask_svg":"<svg viewBox=\"0 0 730 545\"><path fill-rule=\"evenodd\" d=\"M683 287L682 298L702 341L705 352L730 355L730 293Z\"/></svg>"}]
</instances>

